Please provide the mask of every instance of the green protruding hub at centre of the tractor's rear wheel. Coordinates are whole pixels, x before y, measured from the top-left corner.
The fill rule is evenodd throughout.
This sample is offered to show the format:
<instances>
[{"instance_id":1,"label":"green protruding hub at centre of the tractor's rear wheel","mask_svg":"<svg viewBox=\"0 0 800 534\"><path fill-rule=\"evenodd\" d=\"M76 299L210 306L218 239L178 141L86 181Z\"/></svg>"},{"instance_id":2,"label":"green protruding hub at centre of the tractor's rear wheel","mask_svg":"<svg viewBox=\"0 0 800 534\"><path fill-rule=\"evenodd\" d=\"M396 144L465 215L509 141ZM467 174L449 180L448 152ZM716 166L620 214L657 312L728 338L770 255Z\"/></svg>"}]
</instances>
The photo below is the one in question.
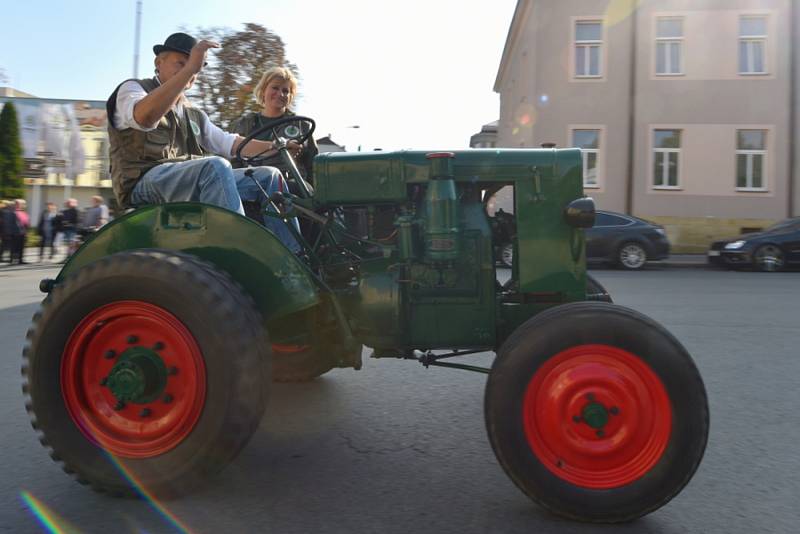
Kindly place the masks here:
<instances>
[{"instance_id":1,"label":"green protruding hub at centre of the tractor's rear wheel","mask_svg":"<svg viewBox=\"0 0 800 534\"><path fill-rule=\"evenodd\" d=\"M117 400L145 404L158 398L167 385L167 367L157 352L132 347L108 375L108 388Z\"/></svg>"}]
</instances>

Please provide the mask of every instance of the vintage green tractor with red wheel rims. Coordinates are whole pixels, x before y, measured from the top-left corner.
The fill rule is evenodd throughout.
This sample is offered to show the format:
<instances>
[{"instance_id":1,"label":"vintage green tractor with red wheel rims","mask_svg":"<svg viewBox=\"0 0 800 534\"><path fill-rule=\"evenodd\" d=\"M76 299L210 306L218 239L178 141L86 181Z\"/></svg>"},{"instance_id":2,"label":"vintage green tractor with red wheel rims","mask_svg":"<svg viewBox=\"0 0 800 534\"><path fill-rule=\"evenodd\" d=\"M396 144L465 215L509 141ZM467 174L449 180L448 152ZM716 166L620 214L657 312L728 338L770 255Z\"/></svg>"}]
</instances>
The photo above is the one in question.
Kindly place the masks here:
<instances>
[{"instance_id":1,"label":"vintage green tractor with red wheel rims","mask_svg":"<svg viewBox=\"0 0 800 534\"><path fill-rule=\"evenodd\" d=\"M279 134L302 142L313 121L286 122L273 133L291 167ZM184 495L244 447L272 381L359 369L369 347L486 373L500 465L558 515L628 521L688 483L708 436L704 385L677 339L587 274L594 203L579 150L335 153L314 165L313 190L292 169L293 192L269 210L300 253L225 209L152 205L42 281L23 391L65 471L113 495ZM495 265L486 210L508 186L510 270ZM447 361L486 351L491 369Z\"/></svg>"}]
</instances>

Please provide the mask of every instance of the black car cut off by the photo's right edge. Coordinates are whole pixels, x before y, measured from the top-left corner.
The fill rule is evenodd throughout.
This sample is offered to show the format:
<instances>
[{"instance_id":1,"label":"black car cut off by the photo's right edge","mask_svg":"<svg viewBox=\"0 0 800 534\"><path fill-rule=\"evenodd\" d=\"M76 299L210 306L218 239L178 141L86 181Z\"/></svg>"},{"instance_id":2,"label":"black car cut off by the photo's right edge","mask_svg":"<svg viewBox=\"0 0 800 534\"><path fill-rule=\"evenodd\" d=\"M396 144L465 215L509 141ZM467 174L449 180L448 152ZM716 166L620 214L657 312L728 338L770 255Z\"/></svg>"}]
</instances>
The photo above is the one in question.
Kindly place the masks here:
<instances>
[{"instance_id":1,"label":"black car cut off by the photo's right edge","mask_svg":"<svg viewBox=\"0 0 800 534\"><path fill-rule=\"evenodd\" d=\"M708 250L708 261L759 271L780 271L789 265L800 265L800 217L775 223L763 232L714 241Z\"/></svg>"}]
</instances>

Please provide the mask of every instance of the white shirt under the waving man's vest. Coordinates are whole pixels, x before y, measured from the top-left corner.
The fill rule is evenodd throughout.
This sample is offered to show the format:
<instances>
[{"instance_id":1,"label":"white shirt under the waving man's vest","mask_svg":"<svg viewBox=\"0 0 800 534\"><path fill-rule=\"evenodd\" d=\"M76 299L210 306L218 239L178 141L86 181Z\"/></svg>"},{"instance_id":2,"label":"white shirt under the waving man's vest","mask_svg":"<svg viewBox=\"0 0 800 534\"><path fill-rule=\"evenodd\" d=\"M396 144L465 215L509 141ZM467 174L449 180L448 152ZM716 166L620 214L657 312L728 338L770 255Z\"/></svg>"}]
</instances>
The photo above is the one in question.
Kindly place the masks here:
<instances>
[{"instance_id":1,"label":"white shirt under the waving man's vest","mask_svg":"<svg viewBox=\"0 0 800 534\"><path fill-rule=\"evenodd\" d=\"M153 80L156 84L161 85L158 76ZM145 128L141 126L133 118L133 107L146 96L147 91L137 81L128 80L120 86L119 91L117 91L117 108L114 111L114 126L117 130L125 130L127 128L133 128L140 132L155 130L155 127ZM180 101L172 107L172 111L178 116L178 120L184 120L183 106ZM209 152L225 157L232 156L231 149L238 136L228 133L215 125L202 110L198 109L197 111L200 112L200 136L198 138L200 145Z\"/></svg>"}]
</instances>

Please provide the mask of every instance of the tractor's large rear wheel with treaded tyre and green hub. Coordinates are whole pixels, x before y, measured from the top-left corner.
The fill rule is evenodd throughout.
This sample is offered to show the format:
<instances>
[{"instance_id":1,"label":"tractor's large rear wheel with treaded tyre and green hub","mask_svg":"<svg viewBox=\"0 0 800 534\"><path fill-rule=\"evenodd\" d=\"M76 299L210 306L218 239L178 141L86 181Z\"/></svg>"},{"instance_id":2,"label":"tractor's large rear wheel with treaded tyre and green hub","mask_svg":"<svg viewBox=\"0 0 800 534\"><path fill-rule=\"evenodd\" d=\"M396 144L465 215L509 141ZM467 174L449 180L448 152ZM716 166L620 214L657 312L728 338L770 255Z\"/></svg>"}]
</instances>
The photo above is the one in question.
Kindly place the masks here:
<instances>
[{"instance_id":1,"label":"tractor's large rear wheel with treaded tyre and green hub","mask_svg":"<svg viewBox=\"0 0 800 534\"><path fill-rule=\"evenodd\" d=\"M236 457L264 412L261 318L191 256L133 251L82 268L45 299L28 339L33 425L100 491L185 494Z\"/></svg>"}]
</instances>

